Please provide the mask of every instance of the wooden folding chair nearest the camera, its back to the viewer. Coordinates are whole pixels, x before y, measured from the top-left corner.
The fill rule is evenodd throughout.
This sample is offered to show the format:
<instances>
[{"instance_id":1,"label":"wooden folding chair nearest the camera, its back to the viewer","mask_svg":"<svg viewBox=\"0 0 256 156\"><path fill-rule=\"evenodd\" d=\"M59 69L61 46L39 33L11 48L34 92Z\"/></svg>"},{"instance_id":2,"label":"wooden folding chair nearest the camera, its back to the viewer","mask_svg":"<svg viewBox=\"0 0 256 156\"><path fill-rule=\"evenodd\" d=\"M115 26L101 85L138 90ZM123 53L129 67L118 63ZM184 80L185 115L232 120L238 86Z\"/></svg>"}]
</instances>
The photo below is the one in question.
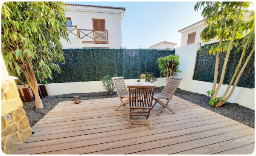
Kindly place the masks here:
<instances>
[{"instance_id":1,"label":"wooden folding chair nearest the camera, its back to the viewer","mask_svg":"<svg viewBox=\"0 0 256 156\"><path fill-rule=\"evenodd\" d=\"M151 122L151 106L153 102L155 85L139 86L139 85L128 85L129 89L129 109L128 114L128 129L130 122L149 122L150 129L152 130ZM151 96L153 95L153 96ZM147 120L130 120L132 116L145 116ZM148 121L149 117L149 121Z\"/></svg>"}]
</instances>

